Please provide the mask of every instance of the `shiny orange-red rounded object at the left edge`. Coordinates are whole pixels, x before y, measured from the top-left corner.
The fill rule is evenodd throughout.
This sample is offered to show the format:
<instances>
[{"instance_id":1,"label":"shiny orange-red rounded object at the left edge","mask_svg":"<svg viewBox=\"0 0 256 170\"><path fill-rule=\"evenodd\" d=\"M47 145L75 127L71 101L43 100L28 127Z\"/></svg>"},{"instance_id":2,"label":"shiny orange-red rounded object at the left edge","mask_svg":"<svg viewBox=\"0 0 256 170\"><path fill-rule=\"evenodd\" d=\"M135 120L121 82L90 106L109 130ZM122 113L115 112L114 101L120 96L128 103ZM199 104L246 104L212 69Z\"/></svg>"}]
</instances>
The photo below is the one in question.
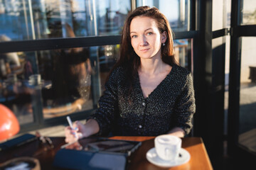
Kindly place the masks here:
<instances>
[{"instance_id":1,"label":"shiny orange-red rounded object at the left edge","mask_svg":"<svg viewBox=\"0 0 256 170\"><path fill-rule=\"evenodd\" d=\"M0 141L16 135L19 130L20 126L14 113L0 104Z\"/></svg>"}]
</instances>

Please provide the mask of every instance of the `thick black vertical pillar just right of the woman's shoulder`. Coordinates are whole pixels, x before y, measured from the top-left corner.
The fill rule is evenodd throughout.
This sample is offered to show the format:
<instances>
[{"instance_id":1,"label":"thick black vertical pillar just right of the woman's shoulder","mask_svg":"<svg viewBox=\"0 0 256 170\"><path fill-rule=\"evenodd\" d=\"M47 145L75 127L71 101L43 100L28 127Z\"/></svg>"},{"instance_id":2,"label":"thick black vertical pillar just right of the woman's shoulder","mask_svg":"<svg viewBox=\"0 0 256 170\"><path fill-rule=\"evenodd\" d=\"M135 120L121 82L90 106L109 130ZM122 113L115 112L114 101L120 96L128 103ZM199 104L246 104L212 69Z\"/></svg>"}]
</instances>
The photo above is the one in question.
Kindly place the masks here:
<instances>
[{"instance_id":1,"label":"thick black vertical pillar just right of the woman's shoulder","mask_svg":"<svg viewBox=\"0 0 256 170\"><path fill-rule=\"evenodd\" d=\"M209 108L209 110L206 112L205 106L205 104L211 102L211 98L208 98L206 100L206 92L209 93L209 86L207 86L207 81L205 79L206 53L209 48L211 49L211 45L207 45L207 43L210 43L210 40L206 39L206 1L196 1L195 7L197 8L195 28L199 30L199 35L193 40L193 80L196 95L196 114L194 115L193 129L195 136L201 136L203 137L203 140L206 140L206 136L208 134L207 115L209 115L209 112L211 111L211 109ZM207 41L207 43L205 43L205 41ZM208 50L206 49L206 47L208 47ZM211 57L210 53L208 53L208 55L210 55Z\"/></svg>"}]
</instances>

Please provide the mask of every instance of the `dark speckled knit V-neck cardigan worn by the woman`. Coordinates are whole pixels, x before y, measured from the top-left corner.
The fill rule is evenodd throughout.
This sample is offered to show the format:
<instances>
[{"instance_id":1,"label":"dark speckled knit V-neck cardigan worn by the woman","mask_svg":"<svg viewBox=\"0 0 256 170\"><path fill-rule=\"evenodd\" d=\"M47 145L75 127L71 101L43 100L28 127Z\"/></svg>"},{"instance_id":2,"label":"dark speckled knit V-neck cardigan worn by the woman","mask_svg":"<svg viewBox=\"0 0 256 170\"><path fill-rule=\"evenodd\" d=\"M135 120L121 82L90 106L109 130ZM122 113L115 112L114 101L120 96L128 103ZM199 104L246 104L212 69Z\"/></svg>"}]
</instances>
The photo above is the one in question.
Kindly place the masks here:
<instances>
[{"instance_id":1,"label":"dark speckled knit V-neck cardigan worn by the woman","mask_svg":"<svg viewBox=\"0 0 256 170\"><path fill-rule=\"evenodd\" d=\"M105 84L99 108L93 118L100 125L99 135L156 136L174 127L188 134L195 113L195 98L191 73L174 65L159 86L144 98L139 75L132 84L125 82L124 69L118 67Z\"/></svg>"}]
</instances>

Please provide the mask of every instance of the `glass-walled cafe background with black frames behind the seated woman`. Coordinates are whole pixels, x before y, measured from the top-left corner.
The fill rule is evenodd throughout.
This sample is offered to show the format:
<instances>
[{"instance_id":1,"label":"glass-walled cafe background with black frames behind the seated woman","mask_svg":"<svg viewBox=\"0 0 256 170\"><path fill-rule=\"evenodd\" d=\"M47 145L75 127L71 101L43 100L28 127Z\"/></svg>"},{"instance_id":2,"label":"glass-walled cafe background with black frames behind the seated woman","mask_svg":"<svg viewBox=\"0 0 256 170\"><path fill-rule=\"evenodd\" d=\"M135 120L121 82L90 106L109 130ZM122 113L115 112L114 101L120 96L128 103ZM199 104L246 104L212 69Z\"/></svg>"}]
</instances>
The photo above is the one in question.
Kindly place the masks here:
<instances>
[{"instance_id":1,"label":"glass-walled cafe background with black frames behind the seated woman","mask_svg":"<svg viewBox=\"0 0 256 170\"><path fill-rule=\"evenodd\" d=\"M214 169L256 156L256 1L0 0L0 102L19 134L85 120L119 56L127 13L156 6L193 74L196 114ZM238 162L235 160L239 160Z\"/></svg>"}]
</instances>

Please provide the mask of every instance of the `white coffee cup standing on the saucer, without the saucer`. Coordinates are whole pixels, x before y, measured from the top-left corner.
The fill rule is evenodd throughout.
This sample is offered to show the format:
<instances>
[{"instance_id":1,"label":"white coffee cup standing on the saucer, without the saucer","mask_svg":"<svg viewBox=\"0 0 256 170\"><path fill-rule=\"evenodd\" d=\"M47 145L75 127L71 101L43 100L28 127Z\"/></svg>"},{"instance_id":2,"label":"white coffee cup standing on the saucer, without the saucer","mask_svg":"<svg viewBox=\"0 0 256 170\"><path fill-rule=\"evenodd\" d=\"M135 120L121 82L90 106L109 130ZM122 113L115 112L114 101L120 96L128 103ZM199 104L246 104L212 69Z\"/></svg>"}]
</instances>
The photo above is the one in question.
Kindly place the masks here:
<instances>
[{"instance_id":1,"label":"white coffee cup standing on the saucer, without the saucer","mask_svg":"<svg viewBox=\"0 0 256 170\"><path fill-rule=\"evenodd\" d=\"M156 154L164 160L175 161L181 150L181 138L174 135L159 135L154 140Z\"/></svg>"}]
</instances>

